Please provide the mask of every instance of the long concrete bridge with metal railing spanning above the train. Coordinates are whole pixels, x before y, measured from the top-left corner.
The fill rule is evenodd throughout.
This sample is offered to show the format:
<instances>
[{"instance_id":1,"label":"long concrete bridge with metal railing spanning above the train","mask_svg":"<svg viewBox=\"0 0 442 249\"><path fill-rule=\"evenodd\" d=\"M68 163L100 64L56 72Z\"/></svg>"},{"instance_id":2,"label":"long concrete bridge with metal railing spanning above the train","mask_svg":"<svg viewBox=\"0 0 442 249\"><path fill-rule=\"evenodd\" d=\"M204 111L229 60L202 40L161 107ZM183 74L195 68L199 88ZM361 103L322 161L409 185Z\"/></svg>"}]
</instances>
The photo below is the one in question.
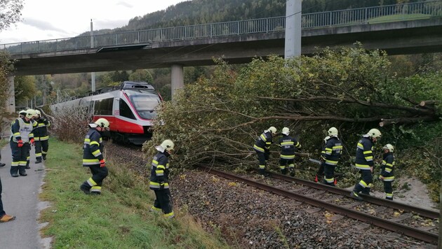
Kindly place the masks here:
<instances>
[{"instance_id":1,"label":"long concrete bridge with metal railing spanning above the train","mask_svg":"<svg viewBox=\"0 0 442 249\"><path fill-rule=\"evenodd\" d=\"M385 19L385 17L388 17ZM284 53L286 17L201 24L2 44L15 76L230 64ZM302 15L302 54L316 48L363 43L389 55L442 52L442 1L405 3ZM13 79L11 79L13 80Z\"/></svg>"}]
</instances>

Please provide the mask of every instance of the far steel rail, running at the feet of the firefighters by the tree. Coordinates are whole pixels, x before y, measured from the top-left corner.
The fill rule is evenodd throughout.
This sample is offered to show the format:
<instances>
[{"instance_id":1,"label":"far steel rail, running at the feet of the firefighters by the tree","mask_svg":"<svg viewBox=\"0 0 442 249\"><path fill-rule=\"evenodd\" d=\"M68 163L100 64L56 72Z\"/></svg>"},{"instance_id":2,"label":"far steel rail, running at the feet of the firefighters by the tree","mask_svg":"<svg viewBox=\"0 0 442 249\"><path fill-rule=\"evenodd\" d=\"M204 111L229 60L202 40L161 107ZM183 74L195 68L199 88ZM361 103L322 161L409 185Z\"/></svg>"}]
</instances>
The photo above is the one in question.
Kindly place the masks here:
<instances>
[{"instance_id":1,"label":"far steel rail, running at the feet of the firefighters by the tree","mask_svg":"<svg viewBox=\"0 0 442 249\"><path fill-rule=\"evenodd\" d=\"M312 181L309 180L304 180L304 179L300 179L300 178L293 178L290 176L284 176L278 173L271 173L269 172L270 176L272 176L273 178L277 178L280 180L286 180L288 182L293 182L299 185L304 185L307 187L313 187L316 188L317 190L326 190L328 192L331 192L333 194L340 194L340 195L344 195L344 196L349 196L349 194L351 193L351 190L344 190L342 188L339 187L332 187L329 185L324 185L321 183L314 183ZM381 199L381 198L377 198L377 197L372 197L370 195L367 194L361 194L361 196L363 197L364 201L367 201L369 203L372 204L377 204L380 206L386 206L389 208L395 208L398 210L402 210L402 211L406 211L409 213L416 213L420 216L426 217L426 218L431 218L431 219L437 219L439 218L439 212L436 211L431 211L429 209L425 209L425 208L420 208L417 206L409 206L407 204L401 204L397 201L389 201L386 199Z\"/></svg>"}]
</instances>

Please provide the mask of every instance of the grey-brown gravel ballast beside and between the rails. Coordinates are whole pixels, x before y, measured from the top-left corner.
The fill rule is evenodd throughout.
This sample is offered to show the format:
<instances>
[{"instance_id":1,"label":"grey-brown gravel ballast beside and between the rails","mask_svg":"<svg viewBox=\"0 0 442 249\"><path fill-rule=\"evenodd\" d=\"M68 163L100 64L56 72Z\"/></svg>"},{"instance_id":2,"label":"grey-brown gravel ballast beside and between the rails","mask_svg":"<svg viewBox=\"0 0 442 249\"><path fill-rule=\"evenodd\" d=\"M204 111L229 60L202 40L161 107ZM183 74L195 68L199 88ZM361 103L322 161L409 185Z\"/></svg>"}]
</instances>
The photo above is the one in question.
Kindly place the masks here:
<instances>
[{"instance_id":1,"label":"grey-brown gravel ballast beside and between the rails","mask_svg":"<svg viewBox=\"0 0 442 249\"><path fill-rule=\"evenodd\" d=\"M132 164L131 169L141 175L149 175L149 162L143 159L142 152L110 143L107 152L118 155L114 160ZM178 174L173 172L173 160L170 165L173 176L170 191L175 208L187 209L205 229L221 233L234 248L436 248L434 244L343 218L334 212L259 190L240 181L204 171ZM293 183L275 183L275 178L248 177L281 185L284 189L293 187ZM314 193L311 188L305 191ZM330 193L323 192L316 198L330 201L332 196L326 197L325 194L330 196ZM348 201L352 202L351 199ZM358 209L359 205L363 207L366 203L359 203L353 208ZM382 213L382 208L365 209L377 209ZM419 217L418 221L423 219ZM431 233L434 232L431 230Z\"/></svg>"}]
</instances>

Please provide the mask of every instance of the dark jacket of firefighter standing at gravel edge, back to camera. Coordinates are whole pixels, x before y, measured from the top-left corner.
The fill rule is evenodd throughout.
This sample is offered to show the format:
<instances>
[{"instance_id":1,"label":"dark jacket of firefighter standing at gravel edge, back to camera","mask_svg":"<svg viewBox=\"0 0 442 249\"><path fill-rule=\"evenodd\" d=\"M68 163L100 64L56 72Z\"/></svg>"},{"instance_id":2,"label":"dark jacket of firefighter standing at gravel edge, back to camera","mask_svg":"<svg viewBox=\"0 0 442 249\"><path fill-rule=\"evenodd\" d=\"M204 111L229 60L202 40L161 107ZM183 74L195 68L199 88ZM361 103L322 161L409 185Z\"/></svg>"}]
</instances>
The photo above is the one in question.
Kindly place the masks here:
<instances>
[{"instance_id":1,"label":"dark jacket of firefighter standing at gravel edge, back to camera","mask_svg":"<svg viewBox=\"0 0 442 249\"><path fill-rule=\"evenodd\" d=\"M169 153L158 152L152 159L152 166L150 169L150 183L151 190L160 190L169 188L168 172L169 172Z\"/></svg>"}]
</instances>

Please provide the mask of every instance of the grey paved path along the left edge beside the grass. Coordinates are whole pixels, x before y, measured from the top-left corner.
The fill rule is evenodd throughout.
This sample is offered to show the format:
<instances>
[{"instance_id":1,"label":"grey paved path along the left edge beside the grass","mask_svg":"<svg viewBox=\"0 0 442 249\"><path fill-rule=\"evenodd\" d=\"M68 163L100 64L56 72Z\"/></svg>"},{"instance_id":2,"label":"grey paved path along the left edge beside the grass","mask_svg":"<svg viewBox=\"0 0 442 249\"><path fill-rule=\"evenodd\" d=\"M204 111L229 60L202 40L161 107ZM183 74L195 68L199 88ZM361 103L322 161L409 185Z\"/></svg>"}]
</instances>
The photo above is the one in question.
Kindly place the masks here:
<instances>
[{"instance_id":1,"label":"grey paved path along the left edge beside the grass","mask_svg":"<svg viewBox=\"0 0 442 249\"><path fill-rule=\"evenodd\" d=\"M1 150L1 162L6 164L0 168L3 185L1 199L6 213L17 218L11 222L0 223L0 248L50 248L51 240L40 237L39 229L42 225L39 225L37 220L40 210L48 205L38 199L45 171L35 169L43 169L43 164L34 164L35 155L32 148L31 169L27 169L27 176L13 178L9 173L11 161L11 148L8 144Z\"/></svg>"}]
</instances>

